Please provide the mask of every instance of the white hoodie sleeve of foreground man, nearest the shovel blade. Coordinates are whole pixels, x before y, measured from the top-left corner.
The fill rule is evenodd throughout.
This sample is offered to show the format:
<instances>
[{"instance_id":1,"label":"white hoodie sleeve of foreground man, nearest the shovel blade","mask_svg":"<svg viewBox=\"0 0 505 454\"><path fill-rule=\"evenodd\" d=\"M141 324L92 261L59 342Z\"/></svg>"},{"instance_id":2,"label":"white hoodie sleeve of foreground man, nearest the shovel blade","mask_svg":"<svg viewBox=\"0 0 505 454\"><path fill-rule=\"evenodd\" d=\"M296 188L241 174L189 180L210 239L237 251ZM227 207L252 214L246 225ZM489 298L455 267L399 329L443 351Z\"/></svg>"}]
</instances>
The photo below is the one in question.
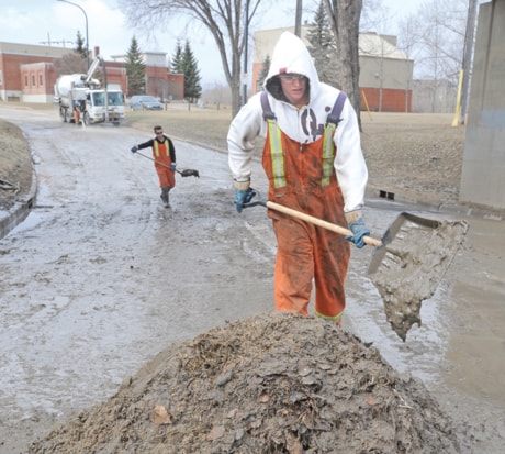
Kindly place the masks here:
<instances>
[{"instance_id":1,"label":"white hoodie sleeve of foreground man, nearest the shovel blade","mask_svg":"<svg viewBox=\"0 0 505 454\"><path fill-rule=\"evenodd\" d=\"M359 210L364 203L368 169L361 150L358 118L349 100L344 104L343 120L334 136L337 156L335 171L344 196L344 211Z\"/></svg>"}]
</instances>

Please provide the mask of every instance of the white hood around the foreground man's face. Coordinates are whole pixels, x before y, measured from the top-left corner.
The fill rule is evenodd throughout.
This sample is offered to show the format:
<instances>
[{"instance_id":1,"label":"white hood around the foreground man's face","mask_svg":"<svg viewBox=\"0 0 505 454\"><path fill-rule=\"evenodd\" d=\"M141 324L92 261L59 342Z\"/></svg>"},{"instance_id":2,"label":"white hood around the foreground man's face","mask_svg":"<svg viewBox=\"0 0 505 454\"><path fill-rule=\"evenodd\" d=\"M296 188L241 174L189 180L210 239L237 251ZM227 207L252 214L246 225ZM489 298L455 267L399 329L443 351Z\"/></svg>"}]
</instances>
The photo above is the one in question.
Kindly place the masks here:
<instances>
[{"instance_id":1,"label":"white hood around the foreground man's face","mask_svg":"<svg viewBox=\"0 0 505 454\"><path fill-rule=\"evenodd\" d=\"M305 44L296 35L283 32L273 48L265 89L276 99L287 101L281 90L279 75L285 73L301 74L308 78L311 99L319 90L319 77Z\"/></svg>"}]
</instances>

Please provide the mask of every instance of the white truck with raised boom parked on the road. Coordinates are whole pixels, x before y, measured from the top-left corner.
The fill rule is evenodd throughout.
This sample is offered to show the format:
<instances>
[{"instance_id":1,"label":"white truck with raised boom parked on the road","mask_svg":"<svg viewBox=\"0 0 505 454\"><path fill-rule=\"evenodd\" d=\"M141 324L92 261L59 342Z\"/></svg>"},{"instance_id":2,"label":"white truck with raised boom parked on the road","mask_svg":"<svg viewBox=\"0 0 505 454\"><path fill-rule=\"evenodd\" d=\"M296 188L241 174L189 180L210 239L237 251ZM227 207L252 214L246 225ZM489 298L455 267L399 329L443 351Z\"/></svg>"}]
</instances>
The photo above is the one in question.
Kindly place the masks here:
<instances>
[{"instance_id":1,"label":"white truck with raised boom parked on the road","mask_svg":"<svg viewBox=\"0 0 505 454\"><path fill-rule=\"evenodd\" d=\"M92 76L102 67L104 87ZM59 107L59 115L65 123L112 122L119 125L124 120L124 95L119 86L106 84L105 62L98 55L88 74L60 76L55 84L54 102ZM75 112L77 109L77 112Z\"/></svg>"}]
</instances>

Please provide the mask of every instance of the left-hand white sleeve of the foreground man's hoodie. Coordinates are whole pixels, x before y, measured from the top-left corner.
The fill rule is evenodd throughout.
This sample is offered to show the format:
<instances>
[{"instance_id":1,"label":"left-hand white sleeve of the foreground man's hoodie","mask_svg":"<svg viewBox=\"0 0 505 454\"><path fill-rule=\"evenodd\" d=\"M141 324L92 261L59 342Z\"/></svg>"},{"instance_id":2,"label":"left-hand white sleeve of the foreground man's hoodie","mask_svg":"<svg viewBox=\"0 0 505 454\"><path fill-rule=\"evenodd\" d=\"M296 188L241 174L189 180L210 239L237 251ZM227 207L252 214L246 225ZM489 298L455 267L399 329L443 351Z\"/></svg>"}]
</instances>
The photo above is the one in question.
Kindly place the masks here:
<instances>
[{"instance_id":1,"label":"left-hand white sleeve of the foreground man's hoodie","mask_svg":"<svg viewBox=\"0 0 505 454\"><path fill-rule=\"evenodd\" d=\"M240 109L229 125L228 165L235 182L250 180L254 140L261 133L262 111L259 96L254 96Z\"/></svg>"}]
</instances>

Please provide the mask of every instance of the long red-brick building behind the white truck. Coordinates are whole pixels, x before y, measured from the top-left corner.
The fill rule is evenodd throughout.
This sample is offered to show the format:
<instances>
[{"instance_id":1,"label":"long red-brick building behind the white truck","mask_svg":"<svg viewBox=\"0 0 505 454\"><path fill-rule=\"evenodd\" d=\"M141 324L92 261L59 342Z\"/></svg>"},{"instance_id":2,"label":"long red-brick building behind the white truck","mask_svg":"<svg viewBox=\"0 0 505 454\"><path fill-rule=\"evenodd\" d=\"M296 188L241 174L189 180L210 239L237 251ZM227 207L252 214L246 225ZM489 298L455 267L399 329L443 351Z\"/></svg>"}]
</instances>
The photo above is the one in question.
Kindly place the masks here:
<instances>
[{"instance_id":1,"label":"long red-brick building behind the white truck","mask_svg":"<svg viewBox=\"0 0 505 454\"><path fill-rule=\"evenodd\" d=\"M0 101L53 102L59 74L54 63L72 49L65 47L0 42ZM94 54L98 55L96 47ZM165 53L145 53L147 93L181 100L184 76L170 74ZM127 96L124 57L106 62L108 84L120 85Z\"/></svg>"}]
</instances>

